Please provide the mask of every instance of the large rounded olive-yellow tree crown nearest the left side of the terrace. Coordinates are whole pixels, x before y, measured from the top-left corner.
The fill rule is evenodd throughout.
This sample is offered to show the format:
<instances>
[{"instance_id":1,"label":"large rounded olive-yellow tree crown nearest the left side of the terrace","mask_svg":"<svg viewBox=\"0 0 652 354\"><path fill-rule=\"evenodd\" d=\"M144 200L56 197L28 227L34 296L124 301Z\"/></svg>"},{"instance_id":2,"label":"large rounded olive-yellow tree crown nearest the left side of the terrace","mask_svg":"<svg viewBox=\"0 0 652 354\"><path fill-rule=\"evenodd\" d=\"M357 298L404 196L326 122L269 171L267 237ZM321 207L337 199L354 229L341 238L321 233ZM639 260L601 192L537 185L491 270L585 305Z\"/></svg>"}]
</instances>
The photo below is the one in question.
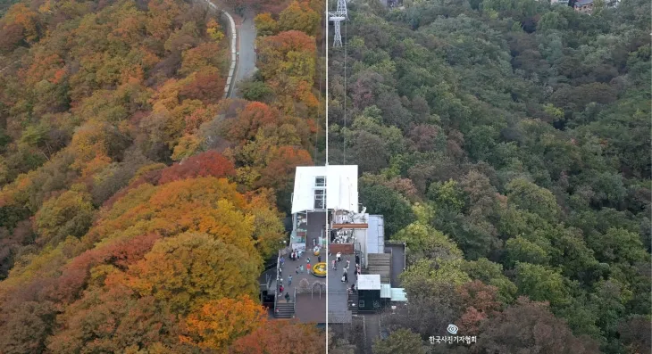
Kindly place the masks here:
<instances>
[{"instance_id":1,"label":"large rounded olive-yellow tree crown nearest the left side of the terrace","mask_svg":"<svg viewBox=\"0 0 652 354\"><path fill-rule=\"evenodd\" d=\"M141 296L151 295L185 313L207 300L255 296L258 270L256 259L238 246L212 235L185 233L155 243L129 273Z\"/></svg>"}]
</instances>

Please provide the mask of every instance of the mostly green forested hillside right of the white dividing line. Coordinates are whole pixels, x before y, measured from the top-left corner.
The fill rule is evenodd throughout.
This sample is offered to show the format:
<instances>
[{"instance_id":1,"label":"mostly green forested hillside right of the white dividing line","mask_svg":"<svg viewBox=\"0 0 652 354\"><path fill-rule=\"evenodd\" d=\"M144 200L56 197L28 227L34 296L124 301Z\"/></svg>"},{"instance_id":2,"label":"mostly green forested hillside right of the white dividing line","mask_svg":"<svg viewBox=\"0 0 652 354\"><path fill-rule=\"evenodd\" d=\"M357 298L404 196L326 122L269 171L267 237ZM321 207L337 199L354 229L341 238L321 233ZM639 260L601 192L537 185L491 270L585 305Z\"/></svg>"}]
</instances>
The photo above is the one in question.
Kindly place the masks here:
<instances>
[{"instance_id":1,"label":"mostly green forested hillside right of the white dividing line","mask_svg":"<svg viewBox=\"0 0 652 354\"><path fill-rule=\"evenodd\" d=\"M647 352L649 3L404 4L352 2L329 68L330 163L408 247L375 351Z\"/></svg>"}]
</instances>

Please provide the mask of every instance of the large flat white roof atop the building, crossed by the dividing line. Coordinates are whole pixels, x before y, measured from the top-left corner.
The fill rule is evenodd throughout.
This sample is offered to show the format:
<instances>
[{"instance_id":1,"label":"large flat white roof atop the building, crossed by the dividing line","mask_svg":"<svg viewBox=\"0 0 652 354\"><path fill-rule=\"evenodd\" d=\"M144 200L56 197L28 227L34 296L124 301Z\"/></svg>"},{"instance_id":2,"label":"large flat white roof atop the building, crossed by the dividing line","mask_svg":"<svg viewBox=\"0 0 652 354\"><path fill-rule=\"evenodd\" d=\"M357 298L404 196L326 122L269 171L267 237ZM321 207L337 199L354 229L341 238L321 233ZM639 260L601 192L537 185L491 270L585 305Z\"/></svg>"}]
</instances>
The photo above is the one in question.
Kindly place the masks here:
<instances>
[{"instance_id":1,"label":"large flat white roof atop the building, crossed by the dividing line","mask_svg":"<svg viewBox=\"0 0 652 354\"><path fill-rule=\"evenodd\" d=\"M297 166L292 214L307 210L357 213L357 165Z\"/></svg>"}]
</instances>

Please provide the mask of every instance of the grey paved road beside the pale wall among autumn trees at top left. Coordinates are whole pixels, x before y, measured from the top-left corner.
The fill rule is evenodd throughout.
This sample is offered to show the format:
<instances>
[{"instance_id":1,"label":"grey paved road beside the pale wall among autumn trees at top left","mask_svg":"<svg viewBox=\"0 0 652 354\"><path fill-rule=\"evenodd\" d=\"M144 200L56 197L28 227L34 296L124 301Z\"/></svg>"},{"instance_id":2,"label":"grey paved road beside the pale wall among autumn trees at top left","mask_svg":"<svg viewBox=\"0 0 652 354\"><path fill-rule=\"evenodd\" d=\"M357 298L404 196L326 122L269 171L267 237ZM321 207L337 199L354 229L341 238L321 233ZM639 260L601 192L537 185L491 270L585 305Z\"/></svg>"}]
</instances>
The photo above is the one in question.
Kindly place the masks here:
<instances>
[{"instance_id":1,"label":"grey paved road beside the pale wall among autumn trees at top left","mask_svg":"<svg viewBox=\"0 0 652 354\"><path fill-rule=\"evenodd\" d=\"M247 10L238 29L238 68L236 69L233 97L239 97L238 83L255 73L255 12ZM236 27L238 27L236 25Z\"/></svg>"}]
</instances>

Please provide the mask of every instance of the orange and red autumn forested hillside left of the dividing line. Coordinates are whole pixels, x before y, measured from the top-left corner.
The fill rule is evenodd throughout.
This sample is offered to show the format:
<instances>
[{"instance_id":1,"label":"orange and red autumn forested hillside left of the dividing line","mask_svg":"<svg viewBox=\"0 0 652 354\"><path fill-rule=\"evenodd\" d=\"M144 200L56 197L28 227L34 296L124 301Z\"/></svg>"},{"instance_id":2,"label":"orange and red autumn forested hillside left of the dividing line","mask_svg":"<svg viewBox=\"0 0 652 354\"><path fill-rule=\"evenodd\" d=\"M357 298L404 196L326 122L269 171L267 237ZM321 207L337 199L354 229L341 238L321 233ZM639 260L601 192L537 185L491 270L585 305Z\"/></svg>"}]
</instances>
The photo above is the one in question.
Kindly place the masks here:
<instances>
[{"instance_id":1,"label":"orange and red autumn forested hillside left of the dividing line","mask_svg":"<svg viewBox=\"0 0 652 354\"><path fill-rule=\"evenodd\" d=\"M203 1L9 8L0 352L320 352L323 333L265 325L258 298L285 237L277 195L318 131L321 18L288 9L258 44L267 104L222 99L230 45Z\"/></svg>"}]
</instances>

